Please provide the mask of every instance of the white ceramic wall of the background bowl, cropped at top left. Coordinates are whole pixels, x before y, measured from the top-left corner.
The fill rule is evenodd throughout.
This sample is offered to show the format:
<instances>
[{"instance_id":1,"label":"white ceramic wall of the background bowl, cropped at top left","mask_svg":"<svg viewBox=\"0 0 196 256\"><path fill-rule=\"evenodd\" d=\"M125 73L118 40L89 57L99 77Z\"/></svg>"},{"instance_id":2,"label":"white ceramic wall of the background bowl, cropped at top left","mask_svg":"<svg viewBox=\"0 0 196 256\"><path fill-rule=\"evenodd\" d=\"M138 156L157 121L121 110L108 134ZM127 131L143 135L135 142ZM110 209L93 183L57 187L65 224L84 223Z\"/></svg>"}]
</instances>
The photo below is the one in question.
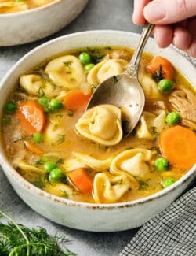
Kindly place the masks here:
<instances>
[{"instance_id":1,"label":"white ceramic wall of the background bowl, cropped at top left","mask_svg":"<svg viewBox=\"0 0 196 256\"><path fill-rule=\"evenodd\" d=\"M0 14L0 46L30 43L52 35L82 12L88 0L54 0L19 13Z\"/></svg>"}]
</instances>

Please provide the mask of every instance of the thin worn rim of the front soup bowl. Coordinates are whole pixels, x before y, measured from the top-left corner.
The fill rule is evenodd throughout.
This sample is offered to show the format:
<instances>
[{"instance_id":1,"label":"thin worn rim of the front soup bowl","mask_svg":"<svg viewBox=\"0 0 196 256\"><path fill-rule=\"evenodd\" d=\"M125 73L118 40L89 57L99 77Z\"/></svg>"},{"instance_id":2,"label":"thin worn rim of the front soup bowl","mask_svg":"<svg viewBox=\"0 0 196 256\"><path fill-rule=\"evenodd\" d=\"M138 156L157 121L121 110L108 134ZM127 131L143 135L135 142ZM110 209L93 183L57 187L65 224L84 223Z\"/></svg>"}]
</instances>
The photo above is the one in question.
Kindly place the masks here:
<instances>
[{"instance_id":1,"label":"thin worn rim of the front soup bowl","mask_svg":"<svg viewBox=\"0 0 196 256\"><path fill-rule=\"evenodd\" d=\"M59 1L59 0L57 0ZM61 1L61 0L60 0ZM66 40L67 38L70 37L77 37L77 36L82 36L82 35L89 35L89 34L96 34L97 33L104 33L104 34L116 34L118 35L129 35L129 36L138 36L138 33L134 32L124 32L124 31L118 31L118 30L91 30L91 31L85 31L85 32L76 32L68 35L62 35L60 37L57 37L55 39L49 40L45 43L42 43L39 46L36 46L34 49L30 50L27 52L27 54L24 54L22 58L20 58L18 61L16 61L15 65L11 69L9 69L8 72L5 73L5 76L3 76L2 80L0 81L0 91L2 90L3 87L5 87L5 82L9 78L9 76L14 72L14 70L20 66L26 59L31 58L31 55L34 55L39 50L42 50L42 48L45 48L45 46L50 46L53 45L53 43L56 43L61 40ZM151 43L154 43L154 39L149 39ZM180 54L179 51L177 51L174 47L169 46L169 48L173 51L176 52L177 55L180 56L180 58L186 59L186 61L189 61L190 65L193 65L193 63L184 55ZM53 55L51 55L53 57ZM195 69L195 67L194 67ZM56 195L49 194L46 191L43 191L42 189L35 187L33 184L31 184L29 181L25 180L23 176L20 176L20 174L16 171L16 169L13 168L13 166L9 163L8 159L6 158L5 150L2 147L2 139L0 139L0 164L2 166L2 169L6 175L6 173L9 173L11 176L13 176L13 179L16 180L16 183L20 184L25 189L28 189L31 191L31 193L35 193L38 196L43 196L45 199L51 199L54 202L60 202L64 204L65 206L73 206L73 207L83 207L83 208L89 208L89 209L118 209L118 208L126 208L126 207L132 207L140 204L147 203L149 201L152 201L154 199L162 198L166 194L168 194L170 191L174 191L180 184L185 183L194 173L196 173L196 164L189 170L187 173L185 173L179 180L177 180L174 184L172 184L170 187L167 187L163 189L162 191L158 191L152 195L148 195L147 197L136 199L133 201L129 202L114 202L114 203L89 203L89 202L77 202L71 199L67 198L61 198Z\"/></svg>"}]
</instances>

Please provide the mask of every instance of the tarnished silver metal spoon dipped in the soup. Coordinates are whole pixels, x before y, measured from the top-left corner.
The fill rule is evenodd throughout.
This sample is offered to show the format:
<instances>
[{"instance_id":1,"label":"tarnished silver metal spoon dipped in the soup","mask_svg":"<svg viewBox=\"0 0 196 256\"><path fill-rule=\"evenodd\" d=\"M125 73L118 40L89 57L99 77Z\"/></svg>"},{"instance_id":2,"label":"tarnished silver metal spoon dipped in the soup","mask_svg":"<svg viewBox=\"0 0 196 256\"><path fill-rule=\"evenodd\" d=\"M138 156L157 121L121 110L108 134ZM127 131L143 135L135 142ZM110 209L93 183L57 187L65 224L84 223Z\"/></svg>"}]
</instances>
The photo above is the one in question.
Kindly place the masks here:
<instances>
[{"instance_id":1,"label":"tarnished silver metal spoon dipped in the soup","mask_svg":"<svg viewBox=\"0 0 196 256\"><path fill-rule=\"evenodd\" d=\"M145 96L138 81L138 69L143 48L151 35L153 24L145 24L136 51L128 68L121 75L111 76L93 92L86 109L111 104L122 109L122 129L125 136L136 127L143 113Z\"/></svg>"}]
</instances>

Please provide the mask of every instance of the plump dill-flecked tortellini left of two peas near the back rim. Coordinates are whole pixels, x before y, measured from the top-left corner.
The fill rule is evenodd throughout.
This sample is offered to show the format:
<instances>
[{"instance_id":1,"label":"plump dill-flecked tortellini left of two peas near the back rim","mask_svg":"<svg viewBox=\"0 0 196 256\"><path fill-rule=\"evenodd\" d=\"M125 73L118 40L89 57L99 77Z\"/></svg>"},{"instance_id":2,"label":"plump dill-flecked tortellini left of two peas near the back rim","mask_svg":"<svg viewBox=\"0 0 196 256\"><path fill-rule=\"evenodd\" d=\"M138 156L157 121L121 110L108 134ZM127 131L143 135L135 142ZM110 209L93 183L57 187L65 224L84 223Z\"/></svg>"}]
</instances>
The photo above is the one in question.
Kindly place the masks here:
<instances>
[{"instance_id":1,"label":"plump dill-flecked tortellini left of two peas near the back rim","mask_svg":"<svg viewBox=\"0 0 196 256\"><path fill-rule=\"evenodd\" d=\"M49 78L59 87L78 89L86 81L82 64L74 55L65 55L49 61L45 67Z\"/></svg>"}]
</instances>

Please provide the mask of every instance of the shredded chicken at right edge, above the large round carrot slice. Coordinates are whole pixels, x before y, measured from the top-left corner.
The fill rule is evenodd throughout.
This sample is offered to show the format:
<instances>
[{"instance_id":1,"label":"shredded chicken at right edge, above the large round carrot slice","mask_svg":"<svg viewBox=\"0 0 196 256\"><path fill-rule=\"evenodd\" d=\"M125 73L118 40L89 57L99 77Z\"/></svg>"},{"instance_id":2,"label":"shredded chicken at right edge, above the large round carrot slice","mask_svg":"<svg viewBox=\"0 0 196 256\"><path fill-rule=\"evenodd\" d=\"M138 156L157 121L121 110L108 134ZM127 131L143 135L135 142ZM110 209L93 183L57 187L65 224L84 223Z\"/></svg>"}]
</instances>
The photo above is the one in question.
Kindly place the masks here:
<instances>
[{"instance_id":1,"label":"shredded chicken at right edge, above the large round carrot slice","mask_svg":"<svg viewBox=\"0 0 196 256\"><path fill-rule=\"evenodd\" d=\"M181 123L196 129L196 95L189 89L180 88L169 96L171 109L180 112Z\"/></svg>"}]
</instances>

